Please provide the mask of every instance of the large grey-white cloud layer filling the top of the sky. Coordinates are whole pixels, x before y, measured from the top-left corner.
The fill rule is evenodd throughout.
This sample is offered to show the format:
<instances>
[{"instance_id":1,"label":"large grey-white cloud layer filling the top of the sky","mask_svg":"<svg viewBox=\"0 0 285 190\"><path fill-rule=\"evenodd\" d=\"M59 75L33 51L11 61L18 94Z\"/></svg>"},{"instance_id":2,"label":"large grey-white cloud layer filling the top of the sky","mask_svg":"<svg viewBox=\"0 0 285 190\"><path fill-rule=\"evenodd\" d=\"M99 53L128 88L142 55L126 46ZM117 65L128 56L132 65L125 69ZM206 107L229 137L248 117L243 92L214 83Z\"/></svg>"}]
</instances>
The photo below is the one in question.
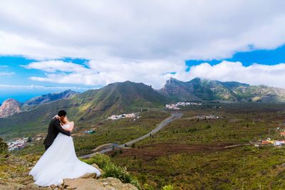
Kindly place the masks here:
<instances>
[{"instance_id":1,"label":"large grey-white cloud layer filling the top of the sky","mask_svg":"<svg viewBox=\"0 0 285 190\"><path fill-rule=\"evenodd\" d=\"M285 43L284 1L2 1L0 54L228 58Z\"/></svg>"}]
</instances>

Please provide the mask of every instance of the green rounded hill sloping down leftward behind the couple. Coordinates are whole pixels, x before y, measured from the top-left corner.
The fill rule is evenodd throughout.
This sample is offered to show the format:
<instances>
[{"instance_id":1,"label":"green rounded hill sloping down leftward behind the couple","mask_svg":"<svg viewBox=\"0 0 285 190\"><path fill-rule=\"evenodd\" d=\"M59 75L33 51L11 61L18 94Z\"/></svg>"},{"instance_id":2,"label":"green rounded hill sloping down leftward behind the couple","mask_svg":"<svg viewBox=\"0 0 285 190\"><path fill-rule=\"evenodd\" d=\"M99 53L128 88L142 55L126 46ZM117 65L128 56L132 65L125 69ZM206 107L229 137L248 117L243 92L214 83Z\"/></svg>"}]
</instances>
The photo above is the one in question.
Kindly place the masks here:
<instances>
[{"instance_id":1,"label":"green rounded hill sloping down leftward behind the couple","mask_svg":"<svg viewBox=\"0 0 285 190\"><path fill-rule=\"evenodd\" d=\"M78 125L105 119L112 114L135 112L142 108L164 106L167 99L142 83L113 83L98 90L73 95L70 99L38 105L33 110L0 120L0 135L21 136L46 129L58 110L66 110Z\"/></svg>"}]
</instances>

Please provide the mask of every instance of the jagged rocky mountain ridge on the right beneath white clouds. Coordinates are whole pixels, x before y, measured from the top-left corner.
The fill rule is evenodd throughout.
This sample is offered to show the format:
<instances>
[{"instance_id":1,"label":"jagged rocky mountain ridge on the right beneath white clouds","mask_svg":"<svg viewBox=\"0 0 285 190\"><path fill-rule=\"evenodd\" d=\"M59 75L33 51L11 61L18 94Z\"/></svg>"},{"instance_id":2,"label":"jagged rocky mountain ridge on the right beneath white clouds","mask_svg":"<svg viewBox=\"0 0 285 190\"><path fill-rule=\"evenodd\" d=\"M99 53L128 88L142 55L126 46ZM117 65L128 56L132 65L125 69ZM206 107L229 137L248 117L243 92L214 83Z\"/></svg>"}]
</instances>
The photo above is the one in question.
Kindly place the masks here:
<instances>
[{"instance_id":1,"label":"jagged rocky mountain ridge on the right beneath white clouds","mask_svg":"<svg viewBox=\"0 0 285 190\"><path fill-rule=\"evenodd\" d=\"M285 90L281 88L201 78L188 82L170 78L159 92L179 101L285 102Z\"/></svg>"}]
</instances>

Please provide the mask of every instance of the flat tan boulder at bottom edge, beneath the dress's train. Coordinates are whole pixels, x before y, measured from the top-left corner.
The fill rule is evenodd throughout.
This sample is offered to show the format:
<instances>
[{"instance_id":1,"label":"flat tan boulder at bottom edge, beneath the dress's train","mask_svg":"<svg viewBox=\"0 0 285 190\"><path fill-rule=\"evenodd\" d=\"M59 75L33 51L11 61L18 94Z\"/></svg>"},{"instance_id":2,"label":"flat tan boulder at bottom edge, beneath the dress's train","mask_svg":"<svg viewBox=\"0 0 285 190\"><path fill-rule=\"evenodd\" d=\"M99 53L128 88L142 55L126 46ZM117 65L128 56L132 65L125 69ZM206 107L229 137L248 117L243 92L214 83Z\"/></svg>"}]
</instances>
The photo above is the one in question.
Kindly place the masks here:
<instances>
[{"instance_id":1,"label":"flat tan boulder at bottom edge, beneath the dress's train","mask_svg":"<svg viewBox=\"0 0 285 190\"><path fill-rule=\"evenodd\" d=\"M63 187L65 189L77 190L136 190L132 184L123 184L119 179L108 177L106 179L63 179Z\"/></svg>"}]
</instances>

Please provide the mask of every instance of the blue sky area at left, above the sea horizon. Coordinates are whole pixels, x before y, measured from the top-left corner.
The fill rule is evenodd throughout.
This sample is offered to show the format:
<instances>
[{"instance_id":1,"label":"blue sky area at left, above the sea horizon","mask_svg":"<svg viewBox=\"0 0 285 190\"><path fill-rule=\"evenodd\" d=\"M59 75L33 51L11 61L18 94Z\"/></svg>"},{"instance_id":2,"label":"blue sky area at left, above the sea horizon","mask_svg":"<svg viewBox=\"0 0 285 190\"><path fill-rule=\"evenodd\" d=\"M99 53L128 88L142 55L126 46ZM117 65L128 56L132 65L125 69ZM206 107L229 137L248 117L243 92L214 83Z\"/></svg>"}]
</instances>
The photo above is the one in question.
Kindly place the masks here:
<instances>
[{"instance_id":1,"label":"blue sky area at left, above the sea horizon","mask_svg":"<svg viewBox=\"0 0 285 190\"><path fill-rule=\"evenodd\" d=\"M87 60L62 58L61 60L84 65ZM14 98L19 102L25 102L31 97L36 97L48 93L58 93L64 90L75 90L84 92L88 89L98 88L98 86L78 85L78 84L58 84L40 82L29 79L31 76L44 76L42 70L26 69L24 65L38 60L24 58L23 56L0 56L0 102L7 98ZM6 74L5 74L6 73Z\"/></svg>"}]
</instances>

